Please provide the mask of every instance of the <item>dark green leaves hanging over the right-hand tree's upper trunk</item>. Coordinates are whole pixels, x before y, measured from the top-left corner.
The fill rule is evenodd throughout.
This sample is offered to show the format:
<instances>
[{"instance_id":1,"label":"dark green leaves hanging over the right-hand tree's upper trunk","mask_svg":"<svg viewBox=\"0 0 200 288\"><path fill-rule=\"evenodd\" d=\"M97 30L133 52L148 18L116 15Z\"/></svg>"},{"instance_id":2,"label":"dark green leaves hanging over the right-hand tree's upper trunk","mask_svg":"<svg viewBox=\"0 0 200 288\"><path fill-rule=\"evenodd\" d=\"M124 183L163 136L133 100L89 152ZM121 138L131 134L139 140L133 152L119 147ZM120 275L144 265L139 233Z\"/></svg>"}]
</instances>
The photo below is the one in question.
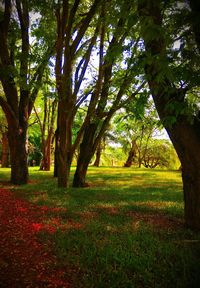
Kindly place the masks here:
<instances>
[{"instance_id":1,"label":"dark green leaves hanging over the right-hand tree's upper trunk","mask_svg":"<svg viewBox=\"0 0 200 288\"><path fill-rule=\"evenodd\" d=\"M149 2L150 6L147 5L147 7L155 5L155 10L159 10L160 5L162 23L160 21L153 22L154 11L152 14L149 11L151 14L149 17L145 16L145 12L140 21L140 33L146 44L148 43L150 46L154 40L159 39L157 44L161 50L159 53L159 47L157 47L158 49L151 47L151 53L150 49L146 49L146 52L142 50L141 65L144 68L148 65L155 67L156 75L155 71L153 73L151 71L147 73L146 77L149 81L152 79L156 81L158 84L156 89L159 94L165 92L169 99L170 95L173 95L166 105L169 115L163 119L163 124L171 128L181 115L186 115L192 122L195 115L194 110L199 110L197 108L199 105L197 91L200 83L200 55L194 37L194 18L189 4L185 1L167 1L165 3L161 1L160 4L156 1L154 4ZM159 90L160 86L163 86L163 91ZM186 95L180 95L181 90L184 91L185 88L187 88ZM174 93L176 89L179 93ZM196 97L190 97L191 93L196 94Z\"/></svg>"}]
</instances>

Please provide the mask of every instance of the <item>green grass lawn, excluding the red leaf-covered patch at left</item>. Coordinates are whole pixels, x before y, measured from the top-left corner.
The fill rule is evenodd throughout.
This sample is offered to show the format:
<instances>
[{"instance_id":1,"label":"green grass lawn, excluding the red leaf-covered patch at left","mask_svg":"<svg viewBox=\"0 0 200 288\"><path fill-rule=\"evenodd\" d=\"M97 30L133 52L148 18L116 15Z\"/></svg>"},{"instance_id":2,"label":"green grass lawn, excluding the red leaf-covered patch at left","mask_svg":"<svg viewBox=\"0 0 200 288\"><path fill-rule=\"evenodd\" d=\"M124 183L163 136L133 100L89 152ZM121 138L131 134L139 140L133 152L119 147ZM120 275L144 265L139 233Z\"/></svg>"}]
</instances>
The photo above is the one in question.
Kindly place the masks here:
<instances>
[{"instance_id":1,"label":"green grass lawn, excluding the red leaf-covered patch at left","mask_svg":"<svg viewBox=\"0 0 200 288\"><path fill-rule=\"evenodd\" d=\"M73 287L200 287L200 233L183 225L180 172L91 167L90 187L67 190L33 167L30 180L11 188L60 211L46 220L56 232L40 237L54 242Z\"/></svg>"}]
</instances>

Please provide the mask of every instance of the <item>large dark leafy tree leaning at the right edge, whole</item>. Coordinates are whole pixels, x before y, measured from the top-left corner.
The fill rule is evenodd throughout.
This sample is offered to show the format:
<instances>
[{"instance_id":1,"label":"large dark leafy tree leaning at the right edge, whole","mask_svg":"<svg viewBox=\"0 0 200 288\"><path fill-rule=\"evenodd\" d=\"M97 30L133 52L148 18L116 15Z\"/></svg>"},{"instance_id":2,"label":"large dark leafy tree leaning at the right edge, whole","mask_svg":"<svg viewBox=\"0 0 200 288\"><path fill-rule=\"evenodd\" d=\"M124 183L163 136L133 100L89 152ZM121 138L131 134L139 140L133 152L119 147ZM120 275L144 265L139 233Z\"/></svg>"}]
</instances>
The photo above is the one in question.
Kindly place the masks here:
<instances>
[{"instance_id":1,"label":"large dark leafy tree leaning at the right edge, whole","mask_svg":"<svg viewBox=\"0 0 200 288\"><path fill-rule=\"evenodd\" d=\"M159 117L181 161L185 223L199 230L200 121L195 93L199 87L199 30L193 22L197 17L191 19L190 10L181 1L169 2L170 7L165 4L157 0L138 1L145 44L144 69ZM195 13L199 15L199 9ZM173 23L173 19L179 21ZM176 39L180 43L178 49L174 47ZM191 94L196 96L195 101L191 101Z\"/></svg>"}]
</instances>

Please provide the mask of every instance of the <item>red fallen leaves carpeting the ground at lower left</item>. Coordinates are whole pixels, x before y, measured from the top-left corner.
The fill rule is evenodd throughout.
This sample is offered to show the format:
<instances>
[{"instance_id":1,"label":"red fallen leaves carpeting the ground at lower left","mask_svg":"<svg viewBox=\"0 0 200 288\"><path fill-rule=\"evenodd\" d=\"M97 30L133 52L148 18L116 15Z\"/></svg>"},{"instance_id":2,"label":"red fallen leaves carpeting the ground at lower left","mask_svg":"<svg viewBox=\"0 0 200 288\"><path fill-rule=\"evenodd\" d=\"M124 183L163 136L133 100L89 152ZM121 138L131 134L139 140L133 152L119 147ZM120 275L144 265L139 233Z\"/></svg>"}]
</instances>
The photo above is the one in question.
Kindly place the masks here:
<instances>
[{"instance_id":1,"label":"red fallen leaves carpeting the ground at lower left","mask_svg":"<svg viewBox=\"0 0 200 288\"><path fill-rule=\"evenodd\" d=\"M41 243L38 232L54 233L43 225L45 209L0 189L0 287L68 288L65 269L59 267L51 243Z\"/></svg>"}]
</instances>

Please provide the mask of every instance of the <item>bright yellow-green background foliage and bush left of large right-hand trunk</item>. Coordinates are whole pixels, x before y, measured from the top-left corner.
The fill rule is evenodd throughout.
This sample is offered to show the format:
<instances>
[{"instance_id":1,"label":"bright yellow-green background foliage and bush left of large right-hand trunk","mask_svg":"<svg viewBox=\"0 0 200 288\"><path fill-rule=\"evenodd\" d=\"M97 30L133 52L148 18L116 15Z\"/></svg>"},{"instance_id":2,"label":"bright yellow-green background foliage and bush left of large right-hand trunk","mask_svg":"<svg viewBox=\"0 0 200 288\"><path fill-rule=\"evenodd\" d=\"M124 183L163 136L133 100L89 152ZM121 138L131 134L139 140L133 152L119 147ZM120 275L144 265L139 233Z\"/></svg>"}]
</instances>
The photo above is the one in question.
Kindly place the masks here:
<instances>
[{"instance_id":1,"label":"bright yellow-green background foliage and bush left of large right-hand trunk","mask_svg":"<svg viewBox=\"0 0 200 288\"><path fill-rule=\"evenodd\" d=\"M134 165L178 169L180 163L172 144L169 140L158 137L162 133L162 125L154 105L151 101L144 105L144 99L142 98L139 103L137 101L130 103L126 111L122 110L116 114L112 128L115 141L120 143L127 155L132 145L135 145Z\"/></svg>"}]
</instances>

